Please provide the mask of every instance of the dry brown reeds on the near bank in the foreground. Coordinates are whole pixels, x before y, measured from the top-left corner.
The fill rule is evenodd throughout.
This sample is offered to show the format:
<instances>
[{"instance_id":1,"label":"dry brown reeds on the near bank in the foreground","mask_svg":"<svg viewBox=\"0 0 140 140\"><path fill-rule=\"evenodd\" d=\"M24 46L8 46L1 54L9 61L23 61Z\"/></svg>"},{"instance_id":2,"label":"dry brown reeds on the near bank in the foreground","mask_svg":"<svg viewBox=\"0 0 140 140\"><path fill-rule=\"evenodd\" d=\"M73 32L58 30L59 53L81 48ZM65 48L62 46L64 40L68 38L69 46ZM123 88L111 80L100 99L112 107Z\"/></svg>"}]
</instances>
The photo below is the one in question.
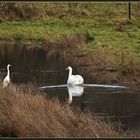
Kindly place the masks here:
<instances>
[{"instance_id":1,"label":"dry brown reeds on the near bank in the foreground","mask_svg":"<svg viewBox=\"0 0 140 140\"><path fill-rule=\"evenodd\" d=\"M2 83L0 82L0 85ZM0 86L0 135L16 137L121 137L115 128L68 104L49 100L31 84Z\"/></svg>"}]
</instances>

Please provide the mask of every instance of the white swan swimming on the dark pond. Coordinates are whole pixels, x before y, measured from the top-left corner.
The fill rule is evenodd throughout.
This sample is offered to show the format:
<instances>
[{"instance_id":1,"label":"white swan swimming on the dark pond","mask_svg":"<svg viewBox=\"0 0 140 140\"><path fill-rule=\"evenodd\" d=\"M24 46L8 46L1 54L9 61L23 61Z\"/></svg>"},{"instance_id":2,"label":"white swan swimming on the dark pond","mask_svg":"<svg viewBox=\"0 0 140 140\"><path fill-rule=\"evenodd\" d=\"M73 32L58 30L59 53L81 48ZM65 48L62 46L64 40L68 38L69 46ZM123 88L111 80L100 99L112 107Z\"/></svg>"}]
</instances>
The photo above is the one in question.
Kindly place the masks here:
<instances>
[{"instance_id":1,"label":"white swan swimming on the dark pond","mask_svg":"<svg viewBox=\"0 0 140 140\"><path fill-rule=\"evenodd\" d=\"M69 70L68 85L81 85L84 83L84 79L81 75L72 75L72 67L68 66L66 70Z\"/></svg>"}]
</instances>

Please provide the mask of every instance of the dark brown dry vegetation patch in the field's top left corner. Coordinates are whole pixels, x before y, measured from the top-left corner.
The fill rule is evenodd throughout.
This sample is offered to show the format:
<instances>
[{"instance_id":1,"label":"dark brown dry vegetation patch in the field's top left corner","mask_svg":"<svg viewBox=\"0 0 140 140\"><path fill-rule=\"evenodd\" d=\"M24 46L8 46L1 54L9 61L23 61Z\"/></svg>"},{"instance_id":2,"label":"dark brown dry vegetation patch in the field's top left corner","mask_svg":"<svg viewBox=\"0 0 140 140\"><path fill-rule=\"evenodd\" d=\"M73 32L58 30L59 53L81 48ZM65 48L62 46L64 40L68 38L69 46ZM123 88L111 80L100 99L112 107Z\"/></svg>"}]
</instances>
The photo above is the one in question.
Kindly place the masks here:
<instances>
[{"instance_id":1,"label":"dark brown dry vegetation patch in the field's top left corner","mask_svg":"<svg viewBox=\"0 0 140 140\"><path fill-rule=\"evenodd\" d=\"M45 15L44 7L45 5L38 7L31 3L1 3L0 20L39 19Z\"/></svg>"}]
</instances>

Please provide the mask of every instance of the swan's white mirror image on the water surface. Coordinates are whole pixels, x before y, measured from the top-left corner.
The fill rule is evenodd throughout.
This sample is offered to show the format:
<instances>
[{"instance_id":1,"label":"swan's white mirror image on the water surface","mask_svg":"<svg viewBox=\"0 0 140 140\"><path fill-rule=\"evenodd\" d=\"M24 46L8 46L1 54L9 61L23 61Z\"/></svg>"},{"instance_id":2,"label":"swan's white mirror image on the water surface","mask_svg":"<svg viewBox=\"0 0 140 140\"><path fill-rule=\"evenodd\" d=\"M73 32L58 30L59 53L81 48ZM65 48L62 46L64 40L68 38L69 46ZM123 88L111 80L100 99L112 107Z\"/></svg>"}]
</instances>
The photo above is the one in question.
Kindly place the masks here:
<instances>
[{"instance_id":1,"label":"swan's white mirror image on the water surface","mask_svg":"<svg viewBox=\"0 0 140 140\"><path fill-rule=\"evenodd\" d=\"M72 97L73 96L82 96L83 92L84 92L84 87L83 86L67 86L68 89L68 94L69 94L69 99L68 99L68 103L71 104L72 103Z\"/></svg>"}]
</instances>

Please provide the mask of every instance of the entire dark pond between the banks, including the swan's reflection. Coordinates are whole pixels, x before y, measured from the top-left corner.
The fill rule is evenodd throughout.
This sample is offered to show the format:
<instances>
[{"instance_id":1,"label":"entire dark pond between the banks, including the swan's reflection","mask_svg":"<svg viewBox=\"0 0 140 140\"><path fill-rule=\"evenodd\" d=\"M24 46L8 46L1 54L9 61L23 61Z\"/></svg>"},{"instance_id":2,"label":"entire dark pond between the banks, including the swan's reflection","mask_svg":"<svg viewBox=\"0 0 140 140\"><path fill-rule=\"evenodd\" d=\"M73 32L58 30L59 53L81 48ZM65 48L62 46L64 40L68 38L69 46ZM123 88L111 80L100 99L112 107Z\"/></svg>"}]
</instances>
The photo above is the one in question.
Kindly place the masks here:
<instances>
[{"instance_id":1,"label":"entire dark pond between the banks, including the swan's reflection","mask_svg":"<svg viewBox=\"0 0 140 140\"><path fill-rule=\"evenodd\" d=\"M32 82L50 98L56 97L70 105L78 105L82 111L90 111L98 117L121 121L124 129L140 133L139 89L98 85L95 81L85 81L83 86L68 87L68 73L65 71L67 63L61 54L26 47L13 47L11 51L5 47L0 53L0 71L5 76L7 64L12 64L10 70L13 83Z\"/></svg>"}]
</instances>

